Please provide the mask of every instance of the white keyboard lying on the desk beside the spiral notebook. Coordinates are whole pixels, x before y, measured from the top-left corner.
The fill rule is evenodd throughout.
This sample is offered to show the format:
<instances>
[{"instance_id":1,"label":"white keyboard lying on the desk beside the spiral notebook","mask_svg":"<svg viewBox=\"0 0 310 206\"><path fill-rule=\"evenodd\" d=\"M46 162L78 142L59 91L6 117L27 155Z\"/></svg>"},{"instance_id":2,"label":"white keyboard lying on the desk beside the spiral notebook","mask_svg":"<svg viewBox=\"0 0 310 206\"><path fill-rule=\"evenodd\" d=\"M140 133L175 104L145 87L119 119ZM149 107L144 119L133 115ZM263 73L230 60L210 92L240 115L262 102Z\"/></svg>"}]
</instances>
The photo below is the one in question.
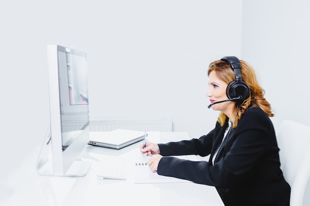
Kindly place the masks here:
<instances>
[{"instance_id":1,"label":"white keyboard lying on the desk beside the spiral notebook","mask_svg":"<svg viewBox=\"0 0 310 206\"><path fill-rule=\"evenodd\" d=\"M125 159L105 158L99 171L97 172L98 179L126 179L127 178L127 162Z\"/></svg>"}]
</instances>

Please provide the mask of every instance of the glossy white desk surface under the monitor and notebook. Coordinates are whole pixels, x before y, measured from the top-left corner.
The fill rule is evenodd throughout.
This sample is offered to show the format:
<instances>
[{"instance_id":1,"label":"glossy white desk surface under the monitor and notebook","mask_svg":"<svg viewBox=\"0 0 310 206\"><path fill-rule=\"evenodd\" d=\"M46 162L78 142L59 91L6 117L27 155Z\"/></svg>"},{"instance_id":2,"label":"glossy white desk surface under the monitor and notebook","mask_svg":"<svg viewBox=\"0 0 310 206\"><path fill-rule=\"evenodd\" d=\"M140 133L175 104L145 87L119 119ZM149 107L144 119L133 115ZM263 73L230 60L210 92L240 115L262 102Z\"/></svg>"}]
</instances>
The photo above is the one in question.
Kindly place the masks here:
<instances>
[{"instance_id":1,"label":"glossy white desk surface under the monitor and notebook","mask_svg":"<svg viewBox=\"0 0 310 206\"><path fill-rule=\"evenodd\" d=\"M160 138L168 142L189 137L186 132L162 132ZM88 145L81 157L94 161L104 155L128 159L139 153L141 143L121 150ZM133 175L127 180L98 180L92 169L84 177L40 176L36 171L39 152L40 147L0 176L0 206L223 206L214 187L195 183L134 184Z\"/></svg>"}]
</instances>

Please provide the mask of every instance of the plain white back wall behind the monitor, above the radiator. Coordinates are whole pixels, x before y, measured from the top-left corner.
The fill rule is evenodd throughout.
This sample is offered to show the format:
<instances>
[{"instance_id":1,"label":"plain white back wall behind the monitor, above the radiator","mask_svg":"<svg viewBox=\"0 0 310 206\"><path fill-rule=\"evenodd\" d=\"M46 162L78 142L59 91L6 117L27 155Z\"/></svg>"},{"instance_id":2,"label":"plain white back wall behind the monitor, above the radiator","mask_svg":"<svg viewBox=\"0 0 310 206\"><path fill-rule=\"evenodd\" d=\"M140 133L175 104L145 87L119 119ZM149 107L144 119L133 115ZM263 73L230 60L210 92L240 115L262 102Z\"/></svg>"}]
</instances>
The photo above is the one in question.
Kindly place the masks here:
<instances>
[{"instance_id":1,"label":"plain white back wall behind the monitor, above the radiator","mask_svg":"<svg viewBox=\"0 0 310 206\"><path fill-rule=\"evenodd\" d=\"M218 115L207 66L241 54L241 11L241 0L2 3L0 172L43 141L47 44L87 52L91 118L169 117L175 131L207 133Z\"/></svg>"}]
</instances>

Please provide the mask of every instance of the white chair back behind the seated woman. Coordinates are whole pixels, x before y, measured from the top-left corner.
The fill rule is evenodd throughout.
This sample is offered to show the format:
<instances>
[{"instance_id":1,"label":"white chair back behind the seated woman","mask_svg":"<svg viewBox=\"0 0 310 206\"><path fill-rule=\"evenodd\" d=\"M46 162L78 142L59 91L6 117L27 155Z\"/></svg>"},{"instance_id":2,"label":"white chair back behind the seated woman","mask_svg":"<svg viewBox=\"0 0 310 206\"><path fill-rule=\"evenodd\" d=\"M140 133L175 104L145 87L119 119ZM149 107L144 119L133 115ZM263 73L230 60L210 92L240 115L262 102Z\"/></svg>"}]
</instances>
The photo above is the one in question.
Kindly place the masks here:
<instances>
[{"instance_id":1,"label":"white chair back behind the seated woman","mask_svg":"<svg viewBox=\"0 0 310 206\"><path fill-rule=\"evenodd\" d=\"M277 133L277 141L281 169L291 186L290 206L303 206L310 176L310 127L284 120Z\"/></svg>"}]
</instances>

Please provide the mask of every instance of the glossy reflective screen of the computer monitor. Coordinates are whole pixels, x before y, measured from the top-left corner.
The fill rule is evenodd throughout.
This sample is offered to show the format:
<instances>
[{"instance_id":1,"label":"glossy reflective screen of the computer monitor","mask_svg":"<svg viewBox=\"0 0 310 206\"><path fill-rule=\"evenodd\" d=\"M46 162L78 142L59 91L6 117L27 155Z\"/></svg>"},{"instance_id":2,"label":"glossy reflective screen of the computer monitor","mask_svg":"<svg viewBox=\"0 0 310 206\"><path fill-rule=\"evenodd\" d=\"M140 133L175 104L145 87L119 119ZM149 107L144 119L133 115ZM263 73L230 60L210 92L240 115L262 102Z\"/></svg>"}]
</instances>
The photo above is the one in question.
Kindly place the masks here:
<instances>
[{"instance_id":1,"label":"glossy reflective screen of the computer monitor","mask_svg":"<svg viewBox=\"0 0 310 206\"><path fill-rule=\"evenodd\" d=\"M89 125L86 54L66 48L58 51L62 150Z\"/></svg>"}]
</instances>

